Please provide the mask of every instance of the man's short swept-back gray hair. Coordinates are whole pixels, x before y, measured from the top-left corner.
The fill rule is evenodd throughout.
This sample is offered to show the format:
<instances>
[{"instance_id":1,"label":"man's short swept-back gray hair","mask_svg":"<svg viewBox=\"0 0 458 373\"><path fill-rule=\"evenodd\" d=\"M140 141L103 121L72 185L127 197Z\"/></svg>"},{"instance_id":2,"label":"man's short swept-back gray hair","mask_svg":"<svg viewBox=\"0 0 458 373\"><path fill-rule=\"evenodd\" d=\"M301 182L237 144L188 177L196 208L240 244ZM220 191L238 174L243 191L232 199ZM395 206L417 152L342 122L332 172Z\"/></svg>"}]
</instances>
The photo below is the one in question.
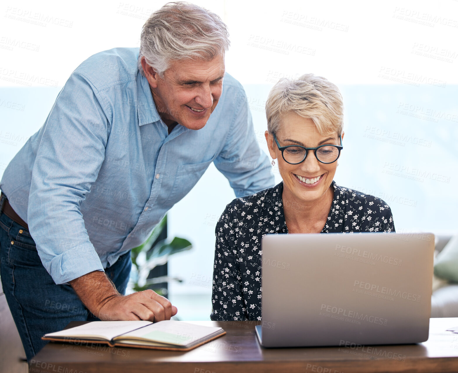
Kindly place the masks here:
<instances>
[{"instance_id":1,"label":"man's short swept-back gray hair","mask_svg":"<svg viewBox=\"0 0 458 373\"><path fill-rule=\"evenodd\" d=\"M144 56L163 77L171 61L209 61L228 50L229 44L227 27L215 13L183 1L167 3L143 25L138 69L145 76Z\"/></svg>"}]
</instances>

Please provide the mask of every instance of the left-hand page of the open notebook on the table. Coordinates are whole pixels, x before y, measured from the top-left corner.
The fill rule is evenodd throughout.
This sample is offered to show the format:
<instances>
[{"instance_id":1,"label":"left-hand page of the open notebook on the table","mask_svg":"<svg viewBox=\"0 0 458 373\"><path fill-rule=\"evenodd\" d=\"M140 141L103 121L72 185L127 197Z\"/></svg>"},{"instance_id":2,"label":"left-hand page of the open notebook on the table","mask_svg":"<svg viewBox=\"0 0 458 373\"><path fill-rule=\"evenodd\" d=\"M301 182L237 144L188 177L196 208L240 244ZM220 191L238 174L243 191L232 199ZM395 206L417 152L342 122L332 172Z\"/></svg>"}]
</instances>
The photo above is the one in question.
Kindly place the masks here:
<instances>
[{"instance_id":1,"label":"left-hand page of the open notebook on the table","mask_svg":"<svg viewBox=\"0 0 458 373\"><path fill-rule=\"evenodd\" d=\"M92 321L75 326L74 328L48 333L46 337L103 337L111 341L115 336L124 334L145 325L153 324L151 321Z\"/></svg>"}]
</instances>

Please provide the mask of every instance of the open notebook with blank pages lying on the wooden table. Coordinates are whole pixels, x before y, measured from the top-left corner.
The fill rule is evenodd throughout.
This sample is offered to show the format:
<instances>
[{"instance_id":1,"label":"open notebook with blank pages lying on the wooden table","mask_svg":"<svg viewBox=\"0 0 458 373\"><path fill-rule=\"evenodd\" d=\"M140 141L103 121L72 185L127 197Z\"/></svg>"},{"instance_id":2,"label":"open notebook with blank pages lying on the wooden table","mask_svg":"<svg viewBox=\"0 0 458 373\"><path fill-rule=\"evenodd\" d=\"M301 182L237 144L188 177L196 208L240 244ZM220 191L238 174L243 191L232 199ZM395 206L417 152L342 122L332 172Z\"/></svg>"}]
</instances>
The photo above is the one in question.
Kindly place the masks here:
<instances>
[{"instance_id":1,"label":"open notebook with blank pages lying on the wooden table","mask_svg":"<svg viewBox=\"0 0 458 373\"><path fill-rule=\"evenodd\" d=\"M111 347L140 347L158 350L189 351L226 334L222 328L165 320L92 321L45 334L41 339L59 342L106 343Z\"/></svg>"}]
</instances>

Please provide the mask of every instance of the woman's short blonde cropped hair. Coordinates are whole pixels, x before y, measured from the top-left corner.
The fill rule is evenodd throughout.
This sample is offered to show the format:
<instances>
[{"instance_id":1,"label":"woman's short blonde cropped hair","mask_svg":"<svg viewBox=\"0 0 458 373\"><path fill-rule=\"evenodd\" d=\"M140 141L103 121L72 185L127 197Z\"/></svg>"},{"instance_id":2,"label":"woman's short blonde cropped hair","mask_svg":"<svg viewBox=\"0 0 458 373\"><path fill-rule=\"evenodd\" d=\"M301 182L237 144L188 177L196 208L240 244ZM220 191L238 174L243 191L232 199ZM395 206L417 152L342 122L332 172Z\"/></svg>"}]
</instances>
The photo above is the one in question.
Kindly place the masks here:
<instances>
[{"instance_id":1,"label":"woman's short blonde cropped hair","mask_svg":"<svg viewBox=\"0 0 458 373\"><path fill-rule=\"evenodd\" d=\"M275 134L284 114L296 113L315 123L321 135L342 134L344 103L338 87L322 76L280 79L266 101L267 130Z\"/></svg>"}]
</instances>

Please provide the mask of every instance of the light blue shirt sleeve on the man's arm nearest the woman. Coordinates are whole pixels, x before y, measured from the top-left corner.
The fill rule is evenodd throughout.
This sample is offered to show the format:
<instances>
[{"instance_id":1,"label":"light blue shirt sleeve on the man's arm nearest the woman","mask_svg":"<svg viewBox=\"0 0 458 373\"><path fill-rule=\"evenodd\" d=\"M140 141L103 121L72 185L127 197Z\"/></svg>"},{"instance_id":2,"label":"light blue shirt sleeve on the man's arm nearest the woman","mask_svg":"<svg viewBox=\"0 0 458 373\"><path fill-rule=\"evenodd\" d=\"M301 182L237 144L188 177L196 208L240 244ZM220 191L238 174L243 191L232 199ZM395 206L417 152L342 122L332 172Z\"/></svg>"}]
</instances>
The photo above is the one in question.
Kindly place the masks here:
<instances>
[{"instance_id":1,"label":"light blue shirt sleeve on the man's arm nearest the woman","mask_svg":"<svg viewBox=\"0 0 458 373\"><path fill-rule=\"evenodd\" d=\"M256 141L250 108L243 88L234 98L234 122L214 164L229 180L237 198L274 186L272 166Z\"/></svg>"}]
</instances>

